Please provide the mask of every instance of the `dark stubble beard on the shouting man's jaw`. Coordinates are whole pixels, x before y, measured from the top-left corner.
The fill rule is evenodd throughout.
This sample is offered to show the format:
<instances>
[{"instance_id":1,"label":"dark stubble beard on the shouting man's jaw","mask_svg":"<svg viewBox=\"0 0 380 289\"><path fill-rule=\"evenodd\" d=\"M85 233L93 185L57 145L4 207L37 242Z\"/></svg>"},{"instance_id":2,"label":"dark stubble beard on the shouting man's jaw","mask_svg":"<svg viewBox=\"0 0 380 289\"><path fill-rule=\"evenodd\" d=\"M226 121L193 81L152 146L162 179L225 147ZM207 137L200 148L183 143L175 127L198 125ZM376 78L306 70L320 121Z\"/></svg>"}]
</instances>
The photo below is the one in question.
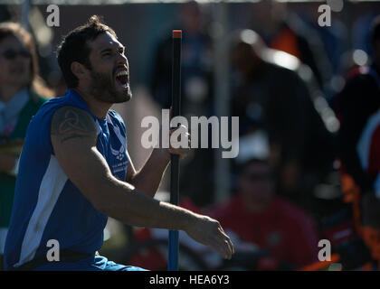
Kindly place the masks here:
<instances>
[{"instance_id":1,"label":"dark stubble beard on the shouting man's jaw","mask_svg":"<svg viewBox=\"0 0 380 289\"><path fill-rule=\"evenodd\" d=\"M90 93L95 99L115 104L127 102L132 98L132 91L129 86L127 91L118 91L115 89L115 80L112 81L109 76L91 71L91 78Z\"/></svg>"}]
</instances>

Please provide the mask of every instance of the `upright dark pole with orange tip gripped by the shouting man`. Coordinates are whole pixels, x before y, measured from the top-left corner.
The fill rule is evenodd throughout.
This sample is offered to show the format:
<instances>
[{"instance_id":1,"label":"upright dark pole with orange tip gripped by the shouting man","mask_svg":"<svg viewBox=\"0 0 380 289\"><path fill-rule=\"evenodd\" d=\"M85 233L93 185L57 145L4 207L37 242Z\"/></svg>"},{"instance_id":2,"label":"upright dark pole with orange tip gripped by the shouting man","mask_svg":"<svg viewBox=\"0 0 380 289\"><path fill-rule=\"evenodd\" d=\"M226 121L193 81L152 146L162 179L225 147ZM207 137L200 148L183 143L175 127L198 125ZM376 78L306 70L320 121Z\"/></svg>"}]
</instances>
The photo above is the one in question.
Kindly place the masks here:
<instances>
[{"instance_id":1,"label":"upright dark pole with orange tip gripped by the shouting man","mask_svg":"<svg viewBox=\"0 0 380 289\"><path fill-rule=\"evenodd\" d=\"M173 31L173 66L172 66L172 117L180 115L181 107L181 42L182 31ZM179 201L179 156L171 156L171 176L170 176L170 202L178 205ZM167 257L167 269L169 271L178 270L178 231L169 230L169 249Z\"/></svg>"}]
</instances>

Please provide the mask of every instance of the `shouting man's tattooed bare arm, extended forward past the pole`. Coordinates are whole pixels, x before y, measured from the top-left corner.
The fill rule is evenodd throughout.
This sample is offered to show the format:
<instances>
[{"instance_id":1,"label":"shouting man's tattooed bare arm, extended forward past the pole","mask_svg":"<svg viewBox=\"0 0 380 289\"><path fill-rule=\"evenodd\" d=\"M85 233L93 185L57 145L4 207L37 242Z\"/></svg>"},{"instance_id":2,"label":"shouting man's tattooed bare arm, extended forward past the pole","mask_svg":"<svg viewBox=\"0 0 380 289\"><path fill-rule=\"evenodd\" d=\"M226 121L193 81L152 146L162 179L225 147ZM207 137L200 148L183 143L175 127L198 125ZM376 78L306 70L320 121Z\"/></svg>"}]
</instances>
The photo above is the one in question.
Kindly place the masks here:
<instances>
[{"instance_id":1,"label":"shouting man's tattooed bare arm, extended forward past the pole","mask_svg":"<svg viewBox=\"0 0 380 289\"><path fill-rule=\"evenodd\" d=\"M86 111L78 107L57 109L51 139L63 172L100 212L132 226L183 229L221 256L232 256L233 244L216 220L149 198L116 179L96 148L97 129Z\"/></svg>"}]
</instances>

